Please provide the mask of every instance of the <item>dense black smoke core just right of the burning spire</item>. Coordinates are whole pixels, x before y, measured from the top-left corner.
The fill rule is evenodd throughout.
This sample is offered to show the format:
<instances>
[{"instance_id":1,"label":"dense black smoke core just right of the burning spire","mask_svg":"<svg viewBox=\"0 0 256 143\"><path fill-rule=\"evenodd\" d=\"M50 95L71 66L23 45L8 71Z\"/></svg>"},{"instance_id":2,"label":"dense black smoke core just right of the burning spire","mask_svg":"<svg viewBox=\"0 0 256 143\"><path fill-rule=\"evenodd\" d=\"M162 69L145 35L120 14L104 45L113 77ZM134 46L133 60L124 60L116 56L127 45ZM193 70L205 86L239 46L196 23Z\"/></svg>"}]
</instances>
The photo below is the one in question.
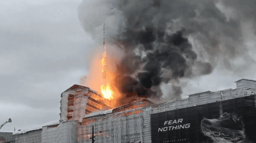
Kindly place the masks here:
<instances>
[{"instance_id":1,"label":"dense black smoke core just right of the burning spire","mask_svg":"<svg viewBox=\"0 0 256 143\"><path fill-rule=\"evenodd\" d=\"M119 47L129 53L118 65L117 77L117 83L127 97L156 96L151 87L192 76L192 67L195 64L200 67L201 75L212 72L210 63L197 61L197 54L193 51L192 45L182 36L186 32L185 29L171 35L160 31L161 29L152 27L146 27L145 30L130 28L123 33L126 38L118 40ZM144 57L131 52L140 45L143 45L140 51L147 53ZM163 76L166 71L171 74ZM172 86L172 90L176 96L182 93L181 87L175 85Z\"/></svg>"}]
</instances>

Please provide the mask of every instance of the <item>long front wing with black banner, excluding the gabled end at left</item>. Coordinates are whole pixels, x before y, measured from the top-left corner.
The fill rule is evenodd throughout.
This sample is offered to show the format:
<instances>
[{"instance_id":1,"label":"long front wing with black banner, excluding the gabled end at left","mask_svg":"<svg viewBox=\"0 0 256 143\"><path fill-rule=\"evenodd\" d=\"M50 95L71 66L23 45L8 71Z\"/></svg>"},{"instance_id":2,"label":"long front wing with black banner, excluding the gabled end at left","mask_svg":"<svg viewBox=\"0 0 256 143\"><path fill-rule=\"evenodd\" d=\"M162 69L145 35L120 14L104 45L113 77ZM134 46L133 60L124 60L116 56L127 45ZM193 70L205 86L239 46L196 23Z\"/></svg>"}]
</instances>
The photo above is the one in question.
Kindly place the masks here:
<instances>
[{"instance_id":1,"label":"long front wing with black banner, excluding the gabled end at left","mask_svg":"<svg viewBox=\"0 0 256 143\"><path fill-rule=\"evenodd\" d=\"M256 81L236 85L141 109L89 114L90 122L78 127L78 142L90 143L94 126L97 143L255 143Z\"/></svg>"}]
</instances>

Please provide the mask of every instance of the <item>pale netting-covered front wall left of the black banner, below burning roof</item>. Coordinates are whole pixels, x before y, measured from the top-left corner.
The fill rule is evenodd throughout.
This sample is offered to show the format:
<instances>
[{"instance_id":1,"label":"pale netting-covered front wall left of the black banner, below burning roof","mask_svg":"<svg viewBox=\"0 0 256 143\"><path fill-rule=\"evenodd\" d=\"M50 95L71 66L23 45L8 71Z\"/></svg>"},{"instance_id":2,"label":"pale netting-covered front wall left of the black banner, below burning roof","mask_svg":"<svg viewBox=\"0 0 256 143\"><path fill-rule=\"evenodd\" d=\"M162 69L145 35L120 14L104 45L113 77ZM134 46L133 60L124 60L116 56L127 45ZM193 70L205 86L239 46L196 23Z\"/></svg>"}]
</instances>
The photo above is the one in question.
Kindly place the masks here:
<instances>
[{"instance_id":1,"label":"pale netting-covered front wall left of the black banner, below burning roof","mask_svg":"<svg viewBox=\"0 0 256 143\"><path fill-rule=\"evenodd\" d=\"M78 142L92 142L92 126L97 143L131 143L139 142L142 138L144 142L151 142L150 109L146 108L143 112L140 109L140 113L134 109L89 117L78 127Z\"/></svg>"}]
</instances>

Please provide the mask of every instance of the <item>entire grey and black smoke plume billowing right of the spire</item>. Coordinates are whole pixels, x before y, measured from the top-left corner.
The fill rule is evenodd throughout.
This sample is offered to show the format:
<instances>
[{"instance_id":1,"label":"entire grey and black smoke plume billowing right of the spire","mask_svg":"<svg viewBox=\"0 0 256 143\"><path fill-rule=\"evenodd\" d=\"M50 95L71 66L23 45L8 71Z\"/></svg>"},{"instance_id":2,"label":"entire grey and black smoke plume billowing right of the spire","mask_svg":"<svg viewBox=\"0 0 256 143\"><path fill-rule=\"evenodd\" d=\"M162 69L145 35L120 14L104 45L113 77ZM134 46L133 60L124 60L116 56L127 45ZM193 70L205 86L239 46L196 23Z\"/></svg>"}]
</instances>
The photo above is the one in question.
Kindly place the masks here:
<instances>
[{"instance_id":1,"label":"entire grey and black smoke plume billowing right of the spire","mask_svg":"<svg viewBox=\"0 0 256 143\"><path fill-rule=\"evenodd\" d=\"M255 1L96 0L92 5L85 3L81 3L78 12L86 31L95 34L95 26L115 18L114 22L106 21L106 25L113 37L109 41L124 51L125 56L117 65L116 83L128 97L160 98L161 84L171 83L171 94L179 98L180 79L210 74L216 66L239 74L255 62L244 45L241 26L243 20L256 23ZM97 4L102 6L102 12L92 8ZM96 16L84 12L89 6L90 14ZM242 62L237 62L239 60Z\"/></svg>"}]
</instances>

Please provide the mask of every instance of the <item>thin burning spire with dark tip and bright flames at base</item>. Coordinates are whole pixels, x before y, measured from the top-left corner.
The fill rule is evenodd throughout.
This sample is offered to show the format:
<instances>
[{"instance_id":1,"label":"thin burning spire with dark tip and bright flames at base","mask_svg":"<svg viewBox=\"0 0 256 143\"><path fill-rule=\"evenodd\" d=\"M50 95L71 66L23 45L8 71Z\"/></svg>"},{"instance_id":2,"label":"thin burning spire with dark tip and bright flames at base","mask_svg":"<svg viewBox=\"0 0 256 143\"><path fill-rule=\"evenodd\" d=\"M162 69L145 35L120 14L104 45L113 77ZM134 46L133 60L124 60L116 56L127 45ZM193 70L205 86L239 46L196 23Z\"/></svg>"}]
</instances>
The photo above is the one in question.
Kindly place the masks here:
<instances>
[{"instance_id":1,"label":"thin burning spire with dark tip and bright flames at base","mask_svg":"<svg viewBox=\"0 0 256 143\"><path fill-rule=\"evenodd\" d=\"M104 48L104 52L103 52L103 58L102 58L102 81L101 81L101 93L103 94L104 98L111 98L111 90L110 90L110 85L107 81L106 78L106 45L105 45L105 22L103 23L103 48Z\"/></svg>"}]
</instances>

